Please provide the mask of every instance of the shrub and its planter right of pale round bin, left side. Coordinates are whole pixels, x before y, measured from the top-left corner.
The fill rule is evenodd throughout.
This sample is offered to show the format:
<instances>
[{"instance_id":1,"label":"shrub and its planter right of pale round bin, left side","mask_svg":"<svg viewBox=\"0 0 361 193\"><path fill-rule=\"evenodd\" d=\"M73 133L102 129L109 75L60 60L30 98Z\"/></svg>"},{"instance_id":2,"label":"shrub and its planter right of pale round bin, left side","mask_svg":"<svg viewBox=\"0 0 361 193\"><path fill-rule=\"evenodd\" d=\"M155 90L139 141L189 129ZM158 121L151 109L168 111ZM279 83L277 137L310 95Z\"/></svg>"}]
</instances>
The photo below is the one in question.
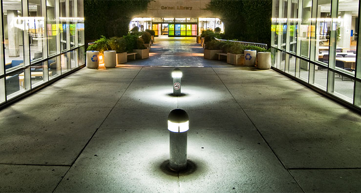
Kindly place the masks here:
<instances>
[{"instance_id":1,"label":"shrub and its planter right of pale round bin, left side","mask_svg":"<svg viewBox=\"0 0 361 193\"><path fill-rule=\"evenodd\" d=\"M112 37L109 39L109 47L116 51L117 64L124 64L127 62L127 41L121 37Z\"/></svg>"}]
</instances>

